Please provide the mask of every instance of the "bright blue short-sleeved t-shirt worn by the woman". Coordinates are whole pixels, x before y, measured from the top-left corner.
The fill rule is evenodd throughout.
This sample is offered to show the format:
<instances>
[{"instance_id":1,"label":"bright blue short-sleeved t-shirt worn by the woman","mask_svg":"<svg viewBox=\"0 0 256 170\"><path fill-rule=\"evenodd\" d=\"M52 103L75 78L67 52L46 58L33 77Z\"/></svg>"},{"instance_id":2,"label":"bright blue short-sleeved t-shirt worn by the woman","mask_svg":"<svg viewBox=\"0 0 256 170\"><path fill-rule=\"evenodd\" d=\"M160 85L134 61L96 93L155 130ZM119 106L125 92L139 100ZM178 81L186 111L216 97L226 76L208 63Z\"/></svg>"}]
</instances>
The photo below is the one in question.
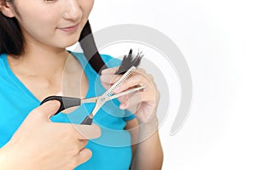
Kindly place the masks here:
<instances>
[{"instance_id":1,"label":"bright blue short-sleeved t-shirt worn by the woman","mask_svg":"<svg viewBox=\"0 0 256 170\"><path fill-rule=\"evenodd\" d=\"M79 60L88 78L89 89L85 98L103 94L105 89L100 78L85 59L84 54L72 54ZM120 63L119 59L113 59L105 54L102 54L102 59L108 67ZM0 54L0 148L11 139L27 114L38 105L40 101L11 71L7 55ZM51 121L80 123L85 116L90 115L94 106L94 103L84 104L71 114L59 113L52 116ZM117 99L103 105L93 121L101 127L102 136L88 142L86 148L92 150L93 156L76 169L128 169L131 164L131 136L124 127L125 122L134 117L131 112L119 109Z\"/></svg>"}]
</instances>

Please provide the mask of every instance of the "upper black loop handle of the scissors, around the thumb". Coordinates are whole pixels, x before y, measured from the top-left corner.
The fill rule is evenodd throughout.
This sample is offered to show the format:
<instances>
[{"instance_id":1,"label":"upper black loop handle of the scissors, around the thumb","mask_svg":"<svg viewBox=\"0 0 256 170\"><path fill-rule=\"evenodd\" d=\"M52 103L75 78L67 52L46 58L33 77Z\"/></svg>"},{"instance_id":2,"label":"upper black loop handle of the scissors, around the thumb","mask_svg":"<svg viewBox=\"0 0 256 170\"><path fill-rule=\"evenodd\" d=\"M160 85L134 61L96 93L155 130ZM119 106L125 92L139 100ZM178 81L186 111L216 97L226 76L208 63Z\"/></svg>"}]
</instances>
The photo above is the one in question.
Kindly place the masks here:
<instances>
[{"instance_id":1,"label":"upper black loop handle of the scissors, around the thumb","mask_svg":"<svg viewBox=\"0 0 256 170\"><path fill-rule=\"evenodd\" d=\"M78 106L81 104L81 99L79 98L70 98L70 97L63 97L63 96L49 96L45 98L40 105L43 105L45 102L49 100L58 100L61 103L60 109L55 113L57 115L59 112L73 107L73 106Z\"/></svg>"}]
</instances>

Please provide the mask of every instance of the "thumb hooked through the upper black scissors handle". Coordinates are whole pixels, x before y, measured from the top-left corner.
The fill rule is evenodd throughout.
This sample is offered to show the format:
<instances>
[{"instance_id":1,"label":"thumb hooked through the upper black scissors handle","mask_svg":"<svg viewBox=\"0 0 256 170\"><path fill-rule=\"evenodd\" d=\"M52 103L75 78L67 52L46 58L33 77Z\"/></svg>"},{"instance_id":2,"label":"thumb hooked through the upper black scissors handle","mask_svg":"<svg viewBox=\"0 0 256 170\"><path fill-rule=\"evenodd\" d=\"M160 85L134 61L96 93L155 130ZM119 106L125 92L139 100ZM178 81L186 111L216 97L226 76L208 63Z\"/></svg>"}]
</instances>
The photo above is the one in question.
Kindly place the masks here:
<instances>
[{"instance_id":1,"label":"thumb hooked through the upper black scissors handle","mask_svg":"<svg viewBox=\"0 0 256 170\"><path fill-rule=\"evenodd\" d=\"M59 110L61 103L57 100L50 100L45 102L43 105L38 106L34 109L33 114L38 114L44 116L47 120L49 117L54 116L55 113Z\"/></svg>"}]
</instances>

